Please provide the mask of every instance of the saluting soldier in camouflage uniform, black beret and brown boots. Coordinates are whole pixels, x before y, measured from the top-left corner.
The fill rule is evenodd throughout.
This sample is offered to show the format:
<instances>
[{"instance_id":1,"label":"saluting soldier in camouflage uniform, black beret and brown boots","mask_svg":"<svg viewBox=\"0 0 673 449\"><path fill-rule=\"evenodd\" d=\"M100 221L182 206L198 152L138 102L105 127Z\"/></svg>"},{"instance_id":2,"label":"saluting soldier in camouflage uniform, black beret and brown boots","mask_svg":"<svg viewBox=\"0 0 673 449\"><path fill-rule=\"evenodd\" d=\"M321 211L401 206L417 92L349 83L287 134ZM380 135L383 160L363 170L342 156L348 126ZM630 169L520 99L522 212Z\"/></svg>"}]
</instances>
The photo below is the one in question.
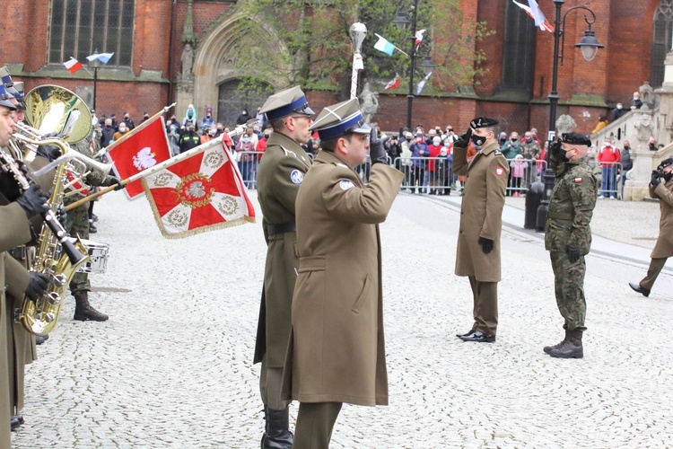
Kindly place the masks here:
<instances>
[{"instance_id":1,"label":"saluting soldier in camouflage uniform, black beret and brown boots","mask_svg":"<svg viewBox=\"0 0 673 449\"><path fill-rule=\"evenodd\" d=\"M557 358L581 358L581 336L587 303L584 299L584 256L591 247L590 221L598 184L587 161L590 138L566 133L550 146L549 165L556 184L546 216L545 249L554 270L556 304L564 317L565 338L545 352Z\"/></svg>"}]
</instances>

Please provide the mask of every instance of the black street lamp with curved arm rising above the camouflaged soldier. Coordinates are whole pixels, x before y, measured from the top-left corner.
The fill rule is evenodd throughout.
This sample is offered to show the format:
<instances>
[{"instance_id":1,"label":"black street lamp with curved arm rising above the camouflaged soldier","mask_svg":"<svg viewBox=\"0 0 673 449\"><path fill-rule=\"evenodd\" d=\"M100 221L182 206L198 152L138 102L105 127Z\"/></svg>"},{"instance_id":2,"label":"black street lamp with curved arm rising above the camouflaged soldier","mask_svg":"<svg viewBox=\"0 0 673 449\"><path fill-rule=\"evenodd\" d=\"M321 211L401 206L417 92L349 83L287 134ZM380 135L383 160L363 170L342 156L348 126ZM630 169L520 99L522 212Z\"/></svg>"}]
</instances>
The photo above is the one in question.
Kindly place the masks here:
<instances>
[{"instance_id":1,"label":"black street lamp with curved arm rising above the camouflaged soldier","mask_svg":"<svg viewBox=\"0 0 673 449\"><path fill-rule=\"evenodd\" d=\"M599 43L598 39L596 39L596 33L591 31L591 24L596 22L596 14L591 11L588 6L572 6L572 8L568 9L568 11L564 13L564 19L562 21L561 6L563 6L564 3L565 0L554 0L554 4L556 5L556 20L554 22L554 72L552 74L552 92L549 93L549 96L547 97L549 99L549 140L552 140L552 133L555 133L556 129L556 105L558 104L558 99L560 98L558 96L558 92L556 92L556 84L558 82L558 61L561 59L561 64L563 65L565 17L568 15L568 13L570 13L573 9L584 9L591 13L591 20L589 20L586 14L584 15L584 21L589 25L589 30L584 31L584 37L581 38L580 43L575 44L575 47L579 47L581 49L581 55L584 57L584 59L590 61L596 57L596 53L598 53L599 48L605 47ZM561 44L560 54L559 40Z\"/></svg>"}]
</instances>

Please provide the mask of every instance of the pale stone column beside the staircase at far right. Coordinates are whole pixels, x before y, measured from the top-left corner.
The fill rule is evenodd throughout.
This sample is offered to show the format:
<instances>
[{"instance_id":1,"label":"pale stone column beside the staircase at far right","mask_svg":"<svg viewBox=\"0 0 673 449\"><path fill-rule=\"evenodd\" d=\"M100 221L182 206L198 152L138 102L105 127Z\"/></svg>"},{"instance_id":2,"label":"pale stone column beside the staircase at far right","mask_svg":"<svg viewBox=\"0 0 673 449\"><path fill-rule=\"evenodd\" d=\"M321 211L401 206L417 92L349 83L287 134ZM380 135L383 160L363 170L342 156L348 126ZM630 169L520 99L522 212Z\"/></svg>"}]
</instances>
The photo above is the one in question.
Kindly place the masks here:
<instances>
[{"instance_id":1,"label":"pale stone column beside the staircase at far right","mask_svg":"<svg viewBox=\"0 0 673 449\"><path fill-rule=\"evenodd\" d=\"M642 201L649 197L648 185L650 184L652 171L652 158L657 152L650 151L647 143L654 131L651 110L634 110L635 138L631 142L631 158L634 168L626 173L626 185L624 199L627 201Z\"/></svg>"}]
</instances>

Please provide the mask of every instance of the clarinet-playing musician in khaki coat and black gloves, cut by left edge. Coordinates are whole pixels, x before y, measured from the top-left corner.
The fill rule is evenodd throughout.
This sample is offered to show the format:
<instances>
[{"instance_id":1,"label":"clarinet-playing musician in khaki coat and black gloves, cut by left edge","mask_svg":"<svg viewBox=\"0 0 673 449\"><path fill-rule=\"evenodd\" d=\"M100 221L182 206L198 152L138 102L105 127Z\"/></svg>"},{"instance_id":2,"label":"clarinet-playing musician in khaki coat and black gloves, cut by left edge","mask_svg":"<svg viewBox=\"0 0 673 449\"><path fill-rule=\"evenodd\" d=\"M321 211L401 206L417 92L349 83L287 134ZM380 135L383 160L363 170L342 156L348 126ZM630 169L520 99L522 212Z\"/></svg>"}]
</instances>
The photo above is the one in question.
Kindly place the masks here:
<instances>
[{"instance_id":1,"label":"clarinet-playing musician in khaki coat and black gloves, cut by left edge","mask_svg":"<svg viewBox=\"0 0 673 449\"><path fill-rule=\"evenodd\" d=\"M13 110L16 109L10 101L11 95L0 85L0 148L9 144L9 137L13 132ZM6 172L2 171L2 176ZM4 181L3 181L4 183ZM6 185L6 184L5 184ZM29 272L14 260L7 252L16 245L31 240L31 226L28 219L48 210L47 195L38 186L23 194L11 204L0 206L0 447L11 447L10 431L18 422L11 422L13 404L10 397L10 366L7 348L10 334L7 328L8 319L12 318L5 294L14 297L28 295L32 299L44 294L47 287L47 278L41 273Z\"/></svg>"}]
</instances>

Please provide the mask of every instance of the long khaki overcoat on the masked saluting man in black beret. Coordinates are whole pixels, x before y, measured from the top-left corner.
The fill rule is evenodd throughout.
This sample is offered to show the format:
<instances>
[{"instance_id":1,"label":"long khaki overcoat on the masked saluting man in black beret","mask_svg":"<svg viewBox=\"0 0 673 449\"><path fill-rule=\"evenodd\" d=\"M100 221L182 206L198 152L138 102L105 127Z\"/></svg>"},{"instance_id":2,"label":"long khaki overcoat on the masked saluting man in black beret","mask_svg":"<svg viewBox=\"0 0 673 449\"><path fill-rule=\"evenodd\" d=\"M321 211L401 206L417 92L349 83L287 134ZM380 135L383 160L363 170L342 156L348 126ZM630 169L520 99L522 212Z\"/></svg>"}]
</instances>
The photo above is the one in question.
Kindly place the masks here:
<instances>
[{"instance_id":1,"label":"long khaki overcoat on the masked saluting man in black beret","mask_svg":"<svg viewBox=\"0 0 673 449\"><path fill-rule=\"evenodd\" d=\"M474 276L479 282L499 282L500 233L510 166L495 143L485 145L468 162L468 148L453 150L453 172L466 177L460 206L456 275ZM493 251L482 251L479 237L494 241Z\"/></svg>"}]
</instances>

